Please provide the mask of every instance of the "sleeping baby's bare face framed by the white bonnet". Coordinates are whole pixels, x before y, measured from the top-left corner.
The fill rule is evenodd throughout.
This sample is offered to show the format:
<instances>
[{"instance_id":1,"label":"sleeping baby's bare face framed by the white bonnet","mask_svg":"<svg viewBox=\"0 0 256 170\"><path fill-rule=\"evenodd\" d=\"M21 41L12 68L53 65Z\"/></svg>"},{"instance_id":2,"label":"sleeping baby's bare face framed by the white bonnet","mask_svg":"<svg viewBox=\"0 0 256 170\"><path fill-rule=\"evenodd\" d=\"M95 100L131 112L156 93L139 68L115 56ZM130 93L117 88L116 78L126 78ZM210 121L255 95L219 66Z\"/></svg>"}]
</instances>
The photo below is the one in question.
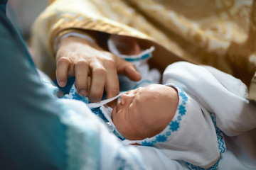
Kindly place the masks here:
<instances>
[{"instance_id":1,"label":"sleeping baby's bare face framed by the white bonnet","mask_svg":"<svg viewBox=\"0 0 256 170\"><path fill-rule=\"evenodd\" d=\"M177 106L176 89L152 84L123 94L113 108L112 120L127 140L143 140L164 130Z\"/></svg>"}]
</instances>

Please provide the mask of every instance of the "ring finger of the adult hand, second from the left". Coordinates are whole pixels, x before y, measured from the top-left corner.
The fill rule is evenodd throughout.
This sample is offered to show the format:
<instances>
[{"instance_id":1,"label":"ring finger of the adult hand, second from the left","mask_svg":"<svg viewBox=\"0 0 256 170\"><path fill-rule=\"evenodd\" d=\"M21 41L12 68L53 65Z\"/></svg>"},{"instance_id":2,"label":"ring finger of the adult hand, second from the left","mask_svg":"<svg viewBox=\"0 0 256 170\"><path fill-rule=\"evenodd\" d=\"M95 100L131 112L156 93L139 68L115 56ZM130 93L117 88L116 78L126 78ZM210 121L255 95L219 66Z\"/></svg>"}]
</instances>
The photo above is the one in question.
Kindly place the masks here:
<instances>
[{"instance_id":1,"label":"ring finger of the adult hand, second from the left","mask_svg":"<svg viewBox=\"0 0 256 170\"><path fill-rule=\"evenodd\" d=\"M86 60L75 62L75 86L80 96L87 96L89 65Z\"/></svg>"}]
</instances>

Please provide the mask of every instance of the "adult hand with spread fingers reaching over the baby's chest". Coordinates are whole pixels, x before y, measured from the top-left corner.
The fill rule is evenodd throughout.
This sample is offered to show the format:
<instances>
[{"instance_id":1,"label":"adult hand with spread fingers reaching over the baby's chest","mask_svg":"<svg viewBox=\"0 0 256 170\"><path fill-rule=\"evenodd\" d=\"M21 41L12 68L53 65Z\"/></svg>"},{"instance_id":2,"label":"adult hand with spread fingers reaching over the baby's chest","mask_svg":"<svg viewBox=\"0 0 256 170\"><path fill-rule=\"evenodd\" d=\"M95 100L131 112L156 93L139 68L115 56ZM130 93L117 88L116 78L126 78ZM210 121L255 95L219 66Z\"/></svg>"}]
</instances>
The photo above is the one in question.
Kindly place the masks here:
<instances>
[{"instance_id":1,"label":"adult hand with spread fingers reaching over the baby's chest","mask_svg":"<svg viewBox=\"0 0 256 170\"><path fill-rule=\"evenodd\" d=\"M58 85L65 86L68 75L75 76L78 94L88 96L92 102L101 100L104 89L107 98L119 94L117 72L125 74L133 81L141 79L134 64L82 38L63 38L56 55L56 62ZM111 105L113 106L113 103Z\"/></svg>"}]
</instances>

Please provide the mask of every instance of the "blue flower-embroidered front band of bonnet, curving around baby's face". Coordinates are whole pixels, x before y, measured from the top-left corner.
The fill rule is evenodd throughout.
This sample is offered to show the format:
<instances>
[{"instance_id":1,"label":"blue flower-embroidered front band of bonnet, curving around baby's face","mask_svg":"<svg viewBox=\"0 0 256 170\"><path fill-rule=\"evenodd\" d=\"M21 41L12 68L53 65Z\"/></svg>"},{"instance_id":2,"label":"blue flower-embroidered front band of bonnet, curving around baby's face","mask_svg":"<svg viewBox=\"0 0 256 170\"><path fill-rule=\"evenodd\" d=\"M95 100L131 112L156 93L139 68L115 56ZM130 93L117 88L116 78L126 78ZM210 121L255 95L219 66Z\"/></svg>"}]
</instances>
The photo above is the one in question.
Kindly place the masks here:
<instances>
[{"instance_id":1,"label":"blue flower-embroidered front band of bonnet, curving around baby's face","mask_svg":"<svg viewBox=\"0 0 256 170\"><path fill-rule=\"evenodd\" d=\"M171 136L171 134L178 131L178 128L180 128L181 120L184 117L184 115L186 115L186 104L188 101L188 97L186 96L185 91L183 91L183 89L179 88L174 84L171 84L171 86L174 86L177 89L179 96L178 109L173 120L171 120L171 123L169 123L168 128L165 129L164 132L161 132L159 135L156 135L155 137L142 140L142 142L140 142L141 145L152 146L157 142L166 142L168 138Z\"/></svg>"}]
</instances>

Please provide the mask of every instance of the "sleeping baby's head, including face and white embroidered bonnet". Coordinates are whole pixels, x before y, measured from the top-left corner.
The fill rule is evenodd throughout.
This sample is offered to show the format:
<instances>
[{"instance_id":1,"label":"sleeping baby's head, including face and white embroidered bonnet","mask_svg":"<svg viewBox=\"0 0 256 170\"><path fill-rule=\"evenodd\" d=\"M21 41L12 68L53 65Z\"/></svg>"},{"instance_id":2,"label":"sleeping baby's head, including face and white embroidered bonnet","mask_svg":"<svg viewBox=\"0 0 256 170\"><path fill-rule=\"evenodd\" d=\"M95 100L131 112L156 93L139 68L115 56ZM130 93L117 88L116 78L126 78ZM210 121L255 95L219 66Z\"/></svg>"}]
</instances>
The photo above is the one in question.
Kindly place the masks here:
<instances>
[{"instance_id":1,"label":"sleeping baby's head, including face and white embroidered bonnet","mask_svg":"<svg viewBox=\"0 0 256 170\"><path fill-rule=\"evenodd\" d=\"M151 84L122 94L112 121L124 143L156 147L191 169L218 166L225 151L214 115L203 113L196 98L176 84Z\"/></svg>"}]
</instances>

